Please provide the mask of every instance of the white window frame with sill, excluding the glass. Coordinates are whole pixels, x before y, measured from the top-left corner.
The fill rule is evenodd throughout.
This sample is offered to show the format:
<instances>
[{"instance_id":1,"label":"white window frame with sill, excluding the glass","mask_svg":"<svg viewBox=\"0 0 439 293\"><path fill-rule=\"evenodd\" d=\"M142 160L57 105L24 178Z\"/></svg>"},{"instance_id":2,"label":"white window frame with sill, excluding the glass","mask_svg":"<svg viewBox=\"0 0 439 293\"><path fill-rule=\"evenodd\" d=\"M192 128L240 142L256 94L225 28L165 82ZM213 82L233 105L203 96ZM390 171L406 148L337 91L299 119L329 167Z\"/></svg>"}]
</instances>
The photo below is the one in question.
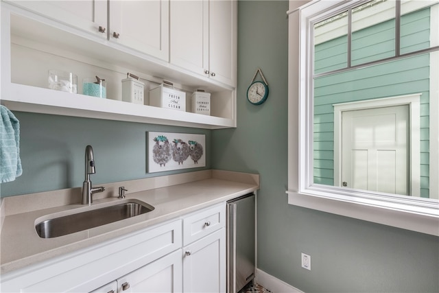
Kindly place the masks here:
<instances>
[{"instance_id":1,"label":"white window frame with sill, excluding the glass","mask_svg":"<svg viewBox=\"0 0 439 293\"><path fill-rule=\"evenodd\" d=\"M289 3L288 203L350 218L439 236L439 200L313 183L313 103L309 22L351 1ZM300 74L305 73L305 74ZM434 180L434 178L431 178Z\"/></svg>"}]
</instances>

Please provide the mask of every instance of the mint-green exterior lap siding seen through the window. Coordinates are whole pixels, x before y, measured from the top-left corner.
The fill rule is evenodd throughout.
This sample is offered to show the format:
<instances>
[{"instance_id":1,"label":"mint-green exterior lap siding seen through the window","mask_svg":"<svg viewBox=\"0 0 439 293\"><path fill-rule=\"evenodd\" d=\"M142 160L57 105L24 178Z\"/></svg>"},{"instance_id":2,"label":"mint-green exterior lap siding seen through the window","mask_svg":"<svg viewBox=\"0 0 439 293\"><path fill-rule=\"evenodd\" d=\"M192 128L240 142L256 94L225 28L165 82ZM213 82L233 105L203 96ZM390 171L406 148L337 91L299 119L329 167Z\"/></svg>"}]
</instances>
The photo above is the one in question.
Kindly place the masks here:
<instances>
[{"instance_id":1,"label":"mint-green exterior lap siding seen through the window","mask_svg":"<svg viewBox=\"0 0 439 293\"><path fill-rule=\"evenodd\" d=\"M401 51L429 47L430 9L401 17ZM416 36L416 37L414 37ZM316 45L316 73L346 67L346 37ZM394 56L394 21L353 33L353 65ZM314 84L314 183L334 185L333 104L421 93L420 196L429 198L429 55L316 78ZM377 74L379 73L379 74Z\"/></svg>"}]
</instances>

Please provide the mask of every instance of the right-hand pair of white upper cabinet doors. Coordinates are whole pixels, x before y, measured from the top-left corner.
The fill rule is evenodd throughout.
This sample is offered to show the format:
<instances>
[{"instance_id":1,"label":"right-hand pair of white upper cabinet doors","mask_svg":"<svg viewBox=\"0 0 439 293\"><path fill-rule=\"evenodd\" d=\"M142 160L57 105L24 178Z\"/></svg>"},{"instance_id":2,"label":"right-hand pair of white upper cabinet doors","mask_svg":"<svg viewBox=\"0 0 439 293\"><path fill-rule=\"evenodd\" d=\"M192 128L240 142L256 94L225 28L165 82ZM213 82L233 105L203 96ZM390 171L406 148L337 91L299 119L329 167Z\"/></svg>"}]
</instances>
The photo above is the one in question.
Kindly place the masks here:
<instances>
[{"instance_id":1,"label":"right-hand pair of white upper cabinet doors","mask_svg":"<svg viewBox=\"0 0 439 293\"><path fill-rule=\"evenodd\" d=\"M236 86L237 2L171 1L170 62Z\"/></svg>"}]
</instances>

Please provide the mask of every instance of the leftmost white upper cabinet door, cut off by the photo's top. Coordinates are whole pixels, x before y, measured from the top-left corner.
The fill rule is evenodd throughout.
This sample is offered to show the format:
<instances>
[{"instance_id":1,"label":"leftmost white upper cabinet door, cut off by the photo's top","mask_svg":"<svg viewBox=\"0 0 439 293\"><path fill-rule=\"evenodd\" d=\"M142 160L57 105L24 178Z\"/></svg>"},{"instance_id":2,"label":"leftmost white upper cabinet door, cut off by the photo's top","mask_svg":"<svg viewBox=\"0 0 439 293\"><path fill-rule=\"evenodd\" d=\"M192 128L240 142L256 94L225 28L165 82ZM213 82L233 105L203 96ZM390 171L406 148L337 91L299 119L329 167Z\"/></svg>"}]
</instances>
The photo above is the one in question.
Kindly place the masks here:
<instances>
[{"instance_id":1,"label":"leftmost white upper cabinet door, cut off by the photo's top","mask_svg":"<svg viewBox=\"0 0 439 293\"><path fill-rule=\"evenodd\" d=\"M100 38L106 38L107 1L7 1ZM100 27L100 28L99 28Z\"/></svg>"}]
</instances>

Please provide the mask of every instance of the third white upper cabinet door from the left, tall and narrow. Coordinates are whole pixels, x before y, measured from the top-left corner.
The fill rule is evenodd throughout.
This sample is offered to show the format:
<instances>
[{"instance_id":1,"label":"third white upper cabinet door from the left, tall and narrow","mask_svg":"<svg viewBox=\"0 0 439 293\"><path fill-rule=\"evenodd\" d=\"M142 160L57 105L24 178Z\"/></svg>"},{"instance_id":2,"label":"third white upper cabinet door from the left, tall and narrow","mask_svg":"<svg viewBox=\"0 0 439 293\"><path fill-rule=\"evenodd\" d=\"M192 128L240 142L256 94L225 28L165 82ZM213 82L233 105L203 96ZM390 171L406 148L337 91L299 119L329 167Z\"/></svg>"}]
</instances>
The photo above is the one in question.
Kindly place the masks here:
<instances>
[{"instance_id":1,"label":"third white upper cabinet door from the left, tall and narrow","mask_svg":"<svg viewBox=\"0 0 439 293\"><path fill-rule=\"evenodd\" d=\"M209 76L209 1L174 0L170 6L171 63Z\"/></svg>"}]
</instances>

